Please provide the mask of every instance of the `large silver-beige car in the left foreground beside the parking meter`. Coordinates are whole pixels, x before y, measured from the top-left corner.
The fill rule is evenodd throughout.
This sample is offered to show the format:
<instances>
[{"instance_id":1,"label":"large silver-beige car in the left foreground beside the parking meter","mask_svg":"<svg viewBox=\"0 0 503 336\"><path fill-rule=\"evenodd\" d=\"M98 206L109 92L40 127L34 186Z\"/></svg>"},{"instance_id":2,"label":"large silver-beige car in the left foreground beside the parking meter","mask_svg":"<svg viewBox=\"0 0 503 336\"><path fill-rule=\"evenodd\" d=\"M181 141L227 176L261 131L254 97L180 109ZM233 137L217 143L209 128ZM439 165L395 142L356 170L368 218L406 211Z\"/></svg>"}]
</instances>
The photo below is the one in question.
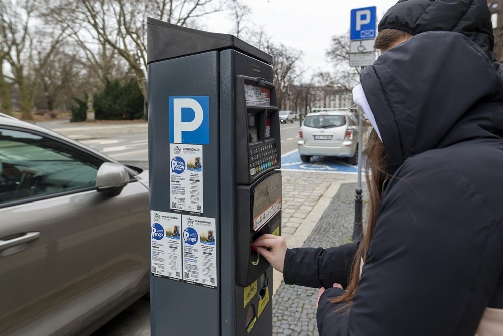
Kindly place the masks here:
<instances>
[{"instance_id":1,"label":"large silver-beige car in the left foreground beside the parking meter","mask_svg":"<svg viewBox=\"0 0 503 336\"><path fill-rule=\"evenodd\" d=\"M0 334L90 334L148 293L148 223L148 171L0 115Z\"/></svg>"}]
</instances>

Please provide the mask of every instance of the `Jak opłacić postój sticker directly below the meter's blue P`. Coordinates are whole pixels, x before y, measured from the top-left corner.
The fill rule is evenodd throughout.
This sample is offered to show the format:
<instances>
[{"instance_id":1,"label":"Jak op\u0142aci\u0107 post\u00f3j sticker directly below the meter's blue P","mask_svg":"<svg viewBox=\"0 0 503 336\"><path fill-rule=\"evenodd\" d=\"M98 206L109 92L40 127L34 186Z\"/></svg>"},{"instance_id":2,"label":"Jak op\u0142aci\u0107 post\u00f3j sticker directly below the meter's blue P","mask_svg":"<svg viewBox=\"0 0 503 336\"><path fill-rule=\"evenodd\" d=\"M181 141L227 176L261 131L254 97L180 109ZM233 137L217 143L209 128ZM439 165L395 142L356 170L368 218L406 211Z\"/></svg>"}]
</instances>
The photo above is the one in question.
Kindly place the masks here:
<instances>
[{"instance_id":1,"label":"Jak op\u0142aci\u0107 post\u00f3j sticker directly below the meter's blue P","mask_svg":"<svg viewBox=\"0 0 503 336\"><path fill-rule=\"evenodd\" d=\"M170 144L171 209L203 213L203 146Z\"/></svg>"}]
</instances>

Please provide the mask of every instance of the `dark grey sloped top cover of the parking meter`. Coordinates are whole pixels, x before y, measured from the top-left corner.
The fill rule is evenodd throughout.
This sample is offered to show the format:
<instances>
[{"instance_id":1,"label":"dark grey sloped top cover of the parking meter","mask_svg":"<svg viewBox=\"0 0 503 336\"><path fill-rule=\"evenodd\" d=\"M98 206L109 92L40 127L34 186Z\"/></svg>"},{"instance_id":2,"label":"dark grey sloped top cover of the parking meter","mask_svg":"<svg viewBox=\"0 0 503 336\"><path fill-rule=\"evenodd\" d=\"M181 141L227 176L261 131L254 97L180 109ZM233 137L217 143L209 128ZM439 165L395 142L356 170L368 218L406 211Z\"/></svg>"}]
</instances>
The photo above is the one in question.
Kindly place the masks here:
<instances>
[{"instance_id":1,"label":"dark grey sloped top cover of the parking meter","mask_svg":"<svg viewBox=\"0 0 503 336\"><path fill-rule=\"evenodd\" d=\"M266 64L273 57L230 34L210 33L147 18L147 63L205 51L234 49Z\"/></svg>"}]
</instances>

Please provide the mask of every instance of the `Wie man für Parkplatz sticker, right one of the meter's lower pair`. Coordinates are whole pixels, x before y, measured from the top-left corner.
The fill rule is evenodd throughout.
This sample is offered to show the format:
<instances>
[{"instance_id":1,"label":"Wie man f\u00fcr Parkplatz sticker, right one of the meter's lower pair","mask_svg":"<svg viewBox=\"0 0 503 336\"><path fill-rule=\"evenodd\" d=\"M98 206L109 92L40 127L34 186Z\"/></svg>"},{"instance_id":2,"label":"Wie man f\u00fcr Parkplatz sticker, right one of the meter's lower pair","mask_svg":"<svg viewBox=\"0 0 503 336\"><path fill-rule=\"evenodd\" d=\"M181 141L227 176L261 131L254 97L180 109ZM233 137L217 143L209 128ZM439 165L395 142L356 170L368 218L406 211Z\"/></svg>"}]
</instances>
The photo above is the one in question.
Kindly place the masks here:
<instances>
[{"instance_id":1,"label":"Wie man f\u00fcr Parkplatz sticker, right one of the meter's lower pair","mask_svg":"<svg viewBox=\"0 0 503 336\"><path fill-rule=\"evenodd\" d=\"M184 282L216 289L215 219L182 215L182 229Z\"/></svg>"}]
</instances>

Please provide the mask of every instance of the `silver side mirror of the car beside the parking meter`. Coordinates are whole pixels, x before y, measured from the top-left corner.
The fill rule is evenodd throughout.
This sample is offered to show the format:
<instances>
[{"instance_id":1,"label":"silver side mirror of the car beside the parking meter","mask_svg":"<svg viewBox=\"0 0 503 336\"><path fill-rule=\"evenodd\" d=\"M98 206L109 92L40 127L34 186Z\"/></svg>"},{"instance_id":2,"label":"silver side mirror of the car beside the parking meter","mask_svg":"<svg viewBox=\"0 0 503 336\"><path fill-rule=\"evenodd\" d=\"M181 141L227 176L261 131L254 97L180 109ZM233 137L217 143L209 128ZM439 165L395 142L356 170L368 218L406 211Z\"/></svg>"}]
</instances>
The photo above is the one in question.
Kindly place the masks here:
<instances>
[{"instance_id":1,"label":"silver side mirror of the car beside the parking meter","mask_svg":"<svg viewBox=\"0 0 503 336\"><path fill-rule=\"evenodd\" d=\"M129 174L121 164L104 162L96 175L96 190L113 197L121 193L129 182Z\"/></svg>"}]
</instances>

